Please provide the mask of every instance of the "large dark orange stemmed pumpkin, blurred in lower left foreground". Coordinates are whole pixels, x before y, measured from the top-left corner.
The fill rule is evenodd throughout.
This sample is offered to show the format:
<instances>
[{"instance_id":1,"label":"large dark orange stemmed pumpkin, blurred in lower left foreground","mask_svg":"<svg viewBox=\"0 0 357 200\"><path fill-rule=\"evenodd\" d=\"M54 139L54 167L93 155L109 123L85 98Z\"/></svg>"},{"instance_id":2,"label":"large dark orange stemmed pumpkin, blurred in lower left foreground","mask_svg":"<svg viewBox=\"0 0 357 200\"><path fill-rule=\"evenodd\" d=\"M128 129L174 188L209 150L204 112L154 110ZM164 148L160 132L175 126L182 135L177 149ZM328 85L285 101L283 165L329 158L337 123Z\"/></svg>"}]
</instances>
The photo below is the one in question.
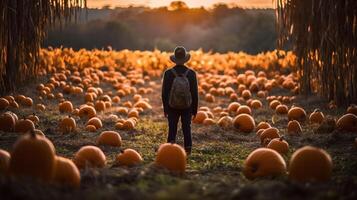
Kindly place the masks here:
<instances>
[{"instance_id":1,"label":"large dark orange stemmed pumpkin, blurred in lower left foreground","mask_svg":"<svg viewBox=\"0 0 357 200\"><path fill-rule=\"evenodd\" d=\"M11 152L9 174L50 181L55 168L55 148L46 137L33 131L20 137Z\"/></svg>"}]
</instances>

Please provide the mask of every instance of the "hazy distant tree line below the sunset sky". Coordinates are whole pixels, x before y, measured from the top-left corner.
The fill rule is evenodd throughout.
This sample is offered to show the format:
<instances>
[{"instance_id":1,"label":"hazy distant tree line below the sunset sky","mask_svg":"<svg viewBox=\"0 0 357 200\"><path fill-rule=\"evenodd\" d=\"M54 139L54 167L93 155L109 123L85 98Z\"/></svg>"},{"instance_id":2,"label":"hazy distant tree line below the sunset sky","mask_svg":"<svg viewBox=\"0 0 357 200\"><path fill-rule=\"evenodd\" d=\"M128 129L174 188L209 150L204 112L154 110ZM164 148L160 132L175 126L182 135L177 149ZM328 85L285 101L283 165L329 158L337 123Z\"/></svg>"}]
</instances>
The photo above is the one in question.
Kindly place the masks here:
<instances>
[{"instance_id":1,"label":"hazy distant tree line below the sunset sky","mask_svg":"<svg viewBox=\"0 0 357 200\"><path fill-rule=\"evenodd\" d=\"M132 7L90 9L88 17L91 20L85 23L52 30L45 46L172 50L180 44L188 49L256 54L275 49L276 44L273 9L230 8L224 4L180 11Z\"/></svg>"}]
</instances>

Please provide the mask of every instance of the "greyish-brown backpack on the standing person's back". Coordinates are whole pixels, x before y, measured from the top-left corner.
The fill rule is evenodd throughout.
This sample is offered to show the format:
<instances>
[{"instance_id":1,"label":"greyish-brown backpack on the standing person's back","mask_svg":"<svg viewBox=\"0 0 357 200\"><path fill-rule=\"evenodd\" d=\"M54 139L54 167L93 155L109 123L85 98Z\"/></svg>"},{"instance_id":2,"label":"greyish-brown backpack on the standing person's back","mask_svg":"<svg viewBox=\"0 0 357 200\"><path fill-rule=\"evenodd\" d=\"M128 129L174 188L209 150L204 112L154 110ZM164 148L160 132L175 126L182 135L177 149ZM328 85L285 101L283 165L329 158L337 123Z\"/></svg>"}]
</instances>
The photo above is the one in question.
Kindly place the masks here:
<instances>
[{"instance_id":1,"label":"greyish-brown backpack on the standing person's back","mask_svg":"<svg viewBox=\"0 0 357 200\"><path fill-rule=\"evenodd\" d=\"M169 105L174 109L187 109L192 104L190 82L187 78L189 70L186 70L184 74L177 74L172 68L172 72L175 78L170 91Z\"/></svg>"}]
</instances>

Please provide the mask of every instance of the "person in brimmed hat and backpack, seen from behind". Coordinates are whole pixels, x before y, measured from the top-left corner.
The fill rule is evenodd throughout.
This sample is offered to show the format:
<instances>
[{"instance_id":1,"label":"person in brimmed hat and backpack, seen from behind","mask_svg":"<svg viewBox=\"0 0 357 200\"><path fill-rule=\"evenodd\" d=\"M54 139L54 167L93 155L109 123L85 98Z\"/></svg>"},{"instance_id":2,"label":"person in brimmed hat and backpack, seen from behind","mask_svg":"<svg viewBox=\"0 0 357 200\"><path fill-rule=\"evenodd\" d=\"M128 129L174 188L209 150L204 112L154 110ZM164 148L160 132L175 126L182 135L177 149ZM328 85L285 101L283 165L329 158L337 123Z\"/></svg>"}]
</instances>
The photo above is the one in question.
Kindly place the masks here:
<instances>
[{"instance_id":1,"label":"person in brimmed hat and backpack, seen from behind","mask_svg":"<svg viewBox=\"0 0 357 200\"><path fill-rule=\"evenodd\" d=\"M192 150L191 120L196 117L198 108L196 72L185 65L190 58L184 47L176 47L174 55L170 56L175 66L164 72L162 81L162 103L169 125L167 142L176 143L177 124L181 118L184 148L188 155Z\"/></svg>"}]
</instances>

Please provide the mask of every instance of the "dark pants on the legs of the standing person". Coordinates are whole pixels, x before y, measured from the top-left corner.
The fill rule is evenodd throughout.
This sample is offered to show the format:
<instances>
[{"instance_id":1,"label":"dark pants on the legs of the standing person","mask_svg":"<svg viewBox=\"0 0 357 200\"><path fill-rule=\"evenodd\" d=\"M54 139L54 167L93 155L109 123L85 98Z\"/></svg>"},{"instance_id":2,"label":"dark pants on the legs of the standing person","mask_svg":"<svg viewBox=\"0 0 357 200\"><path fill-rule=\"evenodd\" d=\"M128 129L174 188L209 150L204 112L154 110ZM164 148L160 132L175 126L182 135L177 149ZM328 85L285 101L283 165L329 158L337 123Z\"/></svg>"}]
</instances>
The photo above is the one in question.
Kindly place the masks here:
<instances>
[{"instance_id":1,"label":"dark pants on the legs of the standing person","mask_svg":"<svg viewBox=\"0 0 357 200\"><path fill-rule=\"evenodd\" d=\"M191 151L192 138L191 138L191 117L190 111L174 111L168 113L169 121L169 135L167 142L175 143L177 134L177 124L181 117L182 132L184 137L184 145L186 151Z\"/></svg>"}]
</instances>

